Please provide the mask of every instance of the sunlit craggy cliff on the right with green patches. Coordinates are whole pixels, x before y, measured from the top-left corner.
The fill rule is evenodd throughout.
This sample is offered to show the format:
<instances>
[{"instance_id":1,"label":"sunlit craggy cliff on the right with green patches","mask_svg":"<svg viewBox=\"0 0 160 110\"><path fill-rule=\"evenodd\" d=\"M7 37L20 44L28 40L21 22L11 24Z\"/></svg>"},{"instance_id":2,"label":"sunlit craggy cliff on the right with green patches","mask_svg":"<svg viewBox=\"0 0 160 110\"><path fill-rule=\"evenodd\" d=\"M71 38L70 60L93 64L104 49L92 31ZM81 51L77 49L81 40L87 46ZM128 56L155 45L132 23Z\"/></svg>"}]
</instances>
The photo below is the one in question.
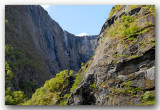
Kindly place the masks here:
<instances>
[{"instance_id":1,"label":"sunlit craggy cliff on the right with green patches","mask_svg":"<svg viewBox=\"0 0 160 110\"><path fill-rule=\"evenodd\" d=\"M153 105L155 8L116 5L68 105Z\"/></svg>"}]
</instances>

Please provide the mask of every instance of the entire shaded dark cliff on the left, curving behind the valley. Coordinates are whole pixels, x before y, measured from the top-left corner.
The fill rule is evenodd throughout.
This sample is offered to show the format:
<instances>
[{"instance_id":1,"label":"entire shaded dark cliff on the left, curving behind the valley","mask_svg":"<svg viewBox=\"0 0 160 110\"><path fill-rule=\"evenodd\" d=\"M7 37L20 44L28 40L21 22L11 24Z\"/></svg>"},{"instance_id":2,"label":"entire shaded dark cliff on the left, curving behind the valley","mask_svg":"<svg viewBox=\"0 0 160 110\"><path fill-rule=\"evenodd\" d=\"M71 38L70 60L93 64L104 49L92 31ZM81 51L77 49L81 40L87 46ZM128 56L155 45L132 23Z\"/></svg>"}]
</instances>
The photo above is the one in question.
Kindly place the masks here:
<instances>
[{"instance_id":1,"label":"entire shaded dark cliff on the left, curving behind the valley","mask_svg":"<svg viewBox=\"0 0 160 110\"><path fill-rule=\"evenodd\" d=\"M78 37L64 31L41 6L5 7L6 61L14 73L10 85L29 96L61 70L78 71L94 54L98 36Z\"/></svg>"}]
</instances>

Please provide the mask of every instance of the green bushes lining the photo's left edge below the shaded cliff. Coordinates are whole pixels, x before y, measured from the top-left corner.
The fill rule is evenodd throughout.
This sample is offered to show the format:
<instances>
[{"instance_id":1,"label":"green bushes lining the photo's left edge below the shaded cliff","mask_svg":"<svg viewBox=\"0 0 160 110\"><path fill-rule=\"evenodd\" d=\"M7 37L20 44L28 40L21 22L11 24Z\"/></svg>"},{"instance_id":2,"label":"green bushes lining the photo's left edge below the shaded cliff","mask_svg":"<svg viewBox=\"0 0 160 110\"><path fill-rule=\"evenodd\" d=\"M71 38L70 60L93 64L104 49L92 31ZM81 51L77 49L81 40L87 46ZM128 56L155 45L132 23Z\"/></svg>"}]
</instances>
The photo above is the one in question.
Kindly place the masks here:
<instances>
[{"instance_id":1,"label":"green bushes lining the photo's left edge below the shaded cliff","mask_svg":"<svg viewBox=\"0 0 160 110\"><path fill-rule=\"evenodd\" d=\"M5 46L5 56L10 59L14 59L14 51L11 45ZM14 74L10 64L5 61L5 104L6 105L19 105L27 100L24 92L12 91L11 87L14 84Z\"/></svg>"}]
</instances>

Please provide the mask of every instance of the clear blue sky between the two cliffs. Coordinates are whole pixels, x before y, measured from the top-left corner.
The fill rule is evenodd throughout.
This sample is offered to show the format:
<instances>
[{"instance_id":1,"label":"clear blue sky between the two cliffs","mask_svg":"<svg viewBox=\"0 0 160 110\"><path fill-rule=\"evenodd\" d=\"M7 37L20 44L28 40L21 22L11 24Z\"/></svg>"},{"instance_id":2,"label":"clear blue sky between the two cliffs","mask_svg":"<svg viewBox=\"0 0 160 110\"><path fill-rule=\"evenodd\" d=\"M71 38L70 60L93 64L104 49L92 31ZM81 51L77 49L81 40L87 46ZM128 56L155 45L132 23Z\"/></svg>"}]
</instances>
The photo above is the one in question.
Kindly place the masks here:
<instances>
[{"instance_id":1,"label":"clear blue sky between the two cliffs","mask_svg":"<svg viewBox=\"0 0 160 110\"><path fill-rule=\"evenodd\" d=\"M66 31L98 35L113 5L42 5Z\"/></svg>"}]
</instances>

